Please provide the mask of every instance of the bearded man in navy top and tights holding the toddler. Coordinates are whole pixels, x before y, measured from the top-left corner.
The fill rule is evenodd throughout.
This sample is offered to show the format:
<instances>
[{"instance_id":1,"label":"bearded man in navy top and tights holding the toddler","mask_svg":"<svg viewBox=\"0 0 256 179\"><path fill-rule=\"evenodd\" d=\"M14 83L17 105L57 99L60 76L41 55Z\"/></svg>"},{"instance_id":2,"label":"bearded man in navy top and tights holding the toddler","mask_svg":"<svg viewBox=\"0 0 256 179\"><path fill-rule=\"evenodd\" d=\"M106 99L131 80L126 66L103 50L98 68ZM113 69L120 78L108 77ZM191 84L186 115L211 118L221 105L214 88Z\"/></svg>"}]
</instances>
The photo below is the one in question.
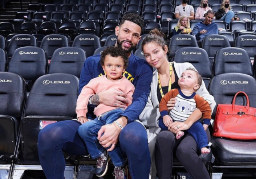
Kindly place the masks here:
<instances>
[{"instance_id":1,"label":"bearded man in navy top and tights holding the toddler","mask_svg":"<svg viewBox=\"0 0 256 179\"><path fill-rule=\"evenodd\" d=\"M138 121L149 96L150 84L153 77L152 67L143 59L133 55L131 51L141 39L143 20L137 14L125 14L115 28L117 35L116 46L125 50L129 57L128 67L123 73L135 86L132 104L119 116L115 124L101 127L98 132L100 145L108 151L120 147L122 155L127 157L131 178L148 179L150 173L150 152L145 127ZM100 55L86 59L81 71L79 93L88 82L98 76L104 75L100 63ZM128 100L126 94L117 90L106 90L90 97L88 102L88 118L94 119L93 108L103 103L108 106L123 108ZM89 113L89 111L91 113ZM38 153L41 166L47 179L64 179L65 160L62 151L73 155L88 155L86 146L77 134L82 119L61 121L49 125L41 130L38 136ZM56 129L61 128L56 134ZM63 137L65 136L65 137ZM102 164L106 161L100 161ZM99 165L100 167L101 165ZM102 167L102 166L101 166ZM125 178L124 168L115 171L115 178ZM127 178L126 178L127 179Z\"/></svg>"}]
</instances>

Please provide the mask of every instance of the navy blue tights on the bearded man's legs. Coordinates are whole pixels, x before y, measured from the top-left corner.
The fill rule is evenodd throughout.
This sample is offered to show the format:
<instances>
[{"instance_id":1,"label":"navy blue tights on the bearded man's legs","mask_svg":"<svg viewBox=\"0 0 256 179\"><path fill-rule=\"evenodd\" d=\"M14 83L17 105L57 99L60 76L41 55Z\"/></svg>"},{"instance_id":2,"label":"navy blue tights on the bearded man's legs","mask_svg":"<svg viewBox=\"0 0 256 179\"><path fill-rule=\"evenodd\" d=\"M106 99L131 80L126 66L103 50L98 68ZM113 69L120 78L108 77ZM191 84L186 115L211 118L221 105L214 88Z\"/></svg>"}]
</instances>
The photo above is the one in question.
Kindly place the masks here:
<instances>
[{"instance_id":1,"label":"navy blue tights on the bearded man's legs","mask_svg":"<svg viewBox=\"0 0 256 179\"><path fill-rule=\"evenodd\" d=\"M64 179L63 151L72 155L88 155L86 146L78 136L78 121L61 121L47 125L38 135L38 154L47 179ZM119 135L122 153L128 159L133 179L148 179L150 153L147 132L139 122L131 122Z\"/></svg>"}]
</instances>

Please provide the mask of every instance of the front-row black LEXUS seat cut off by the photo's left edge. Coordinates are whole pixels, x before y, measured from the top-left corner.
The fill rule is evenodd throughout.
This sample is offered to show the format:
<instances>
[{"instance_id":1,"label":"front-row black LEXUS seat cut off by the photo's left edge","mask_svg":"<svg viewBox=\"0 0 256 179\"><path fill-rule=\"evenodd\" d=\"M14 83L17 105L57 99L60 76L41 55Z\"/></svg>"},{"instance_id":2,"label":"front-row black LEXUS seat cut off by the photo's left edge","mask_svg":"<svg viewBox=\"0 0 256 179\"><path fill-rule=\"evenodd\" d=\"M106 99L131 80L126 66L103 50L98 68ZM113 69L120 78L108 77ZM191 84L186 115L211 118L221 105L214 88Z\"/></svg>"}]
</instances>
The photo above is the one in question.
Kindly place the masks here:
<instances>
[{"instance_id":1,"label":"front-row black LEXUS seat cut off by the photo's left edge","mask_svg":"<svg viewBox=\"0 0 256 179\"><path fill-rule=\"evenodd\" d=\"M0 164L11 164L18 129L26 101L24 79L14 73L0 72ZM3 172L2 172L3 174Z\"/></svg>"}]
</instances>

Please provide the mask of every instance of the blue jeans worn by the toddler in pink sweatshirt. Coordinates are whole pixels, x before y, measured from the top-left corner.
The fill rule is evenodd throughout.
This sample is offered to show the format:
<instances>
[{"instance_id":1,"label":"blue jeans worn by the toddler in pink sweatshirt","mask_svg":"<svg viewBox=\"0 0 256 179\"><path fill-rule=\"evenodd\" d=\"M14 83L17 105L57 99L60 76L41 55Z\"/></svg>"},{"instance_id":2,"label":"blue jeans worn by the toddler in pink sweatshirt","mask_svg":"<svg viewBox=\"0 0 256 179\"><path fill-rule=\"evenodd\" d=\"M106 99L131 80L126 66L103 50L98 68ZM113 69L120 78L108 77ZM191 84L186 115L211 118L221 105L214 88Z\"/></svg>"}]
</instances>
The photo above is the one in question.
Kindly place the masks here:
<instances>
[{"instance_id":1,"label":"blue jeans worn by the toddler in pink sweatshirt","mask_svg":"<svg viewBox=\"0 0 256 179\"><path fill-rule=\"evenodd\" d=\"M78 128L78 134L85 142L92 158L98 158L106 150L97 139L99 129L101 129L101 126L103 125L112 124L120 115L122 115L122 113L123 109L114 109L104 113L101 117L97 117L92 121L82 124ZM119 142L115 145L114 150L109 152L109 156L111 157L115 167L123 166L126 163L126 159L121 152Z\"/></svg>"}]
</instances>

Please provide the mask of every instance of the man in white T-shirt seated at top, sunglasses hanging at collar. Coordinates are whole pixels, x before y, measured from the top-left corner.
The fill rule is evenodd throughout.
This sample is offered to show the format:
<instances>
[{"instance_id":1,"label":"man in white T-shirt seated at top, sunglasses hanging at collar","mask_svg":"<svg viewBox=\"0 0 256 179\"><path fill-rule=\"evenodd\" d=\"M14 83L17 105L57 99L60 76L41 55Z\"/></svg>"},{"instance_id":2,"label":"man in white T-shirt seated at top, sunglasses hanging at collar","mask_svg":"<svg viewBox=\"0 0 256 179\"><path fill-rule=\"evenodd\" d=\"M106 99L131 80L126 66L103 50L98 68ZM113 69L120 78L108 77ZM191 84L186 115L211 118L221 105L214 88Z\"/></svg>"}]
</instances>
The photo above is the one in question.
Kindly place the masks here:
<instances>
[{"instance_id":1,"label":"man in white T-shirt seated at top, sunglasses hanging at collar","mask_svg":"<svg viewBox=\"0 0 256 179\"><path fill-rule=\"evenodd\" d=\"M192 5L188 5L187 3L188 3L188 0L182 0L182 4L176 6L174 11L176 19L179 19L183 15L187 16L190 20L195 19L194 8Z\"/></svg>"}]
</instances>

